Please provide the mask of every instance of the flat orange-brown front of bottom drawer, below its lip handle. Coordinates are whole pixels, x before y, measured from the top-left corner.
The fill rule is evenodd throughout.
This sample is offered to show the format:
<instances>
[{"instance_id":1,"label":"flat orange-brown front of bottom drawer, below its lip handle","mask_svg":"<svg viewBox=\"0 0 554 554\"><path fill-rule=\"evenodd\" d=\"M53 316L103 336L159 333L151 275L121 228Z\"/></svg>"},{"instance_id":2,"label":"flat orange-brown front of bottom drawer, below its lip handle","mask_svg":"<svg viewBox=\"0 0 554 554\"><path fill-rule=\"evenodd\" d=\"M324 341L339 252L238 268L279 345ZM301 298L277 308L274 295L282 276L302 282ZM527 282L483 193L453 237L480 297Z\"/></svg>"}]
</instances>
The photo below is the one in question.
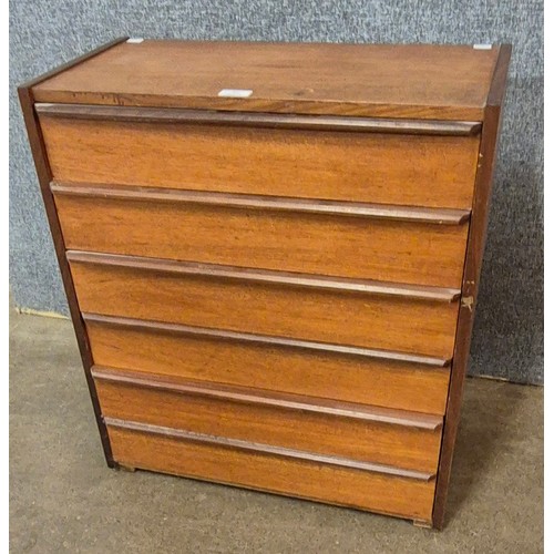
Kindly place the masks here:
<instances>
[{"instance_id":1,"label":"flat orange-brown front of bottom drawer, below its lip handle","mask_svg":"<svg viewBox=\"0 0 554 554\"><path fill-rule=\"evenodd\" d=\"M384 476L115 425L107 429L114 458L124 465L431 521L434 480Z\"/></svg>"}]
</instances>

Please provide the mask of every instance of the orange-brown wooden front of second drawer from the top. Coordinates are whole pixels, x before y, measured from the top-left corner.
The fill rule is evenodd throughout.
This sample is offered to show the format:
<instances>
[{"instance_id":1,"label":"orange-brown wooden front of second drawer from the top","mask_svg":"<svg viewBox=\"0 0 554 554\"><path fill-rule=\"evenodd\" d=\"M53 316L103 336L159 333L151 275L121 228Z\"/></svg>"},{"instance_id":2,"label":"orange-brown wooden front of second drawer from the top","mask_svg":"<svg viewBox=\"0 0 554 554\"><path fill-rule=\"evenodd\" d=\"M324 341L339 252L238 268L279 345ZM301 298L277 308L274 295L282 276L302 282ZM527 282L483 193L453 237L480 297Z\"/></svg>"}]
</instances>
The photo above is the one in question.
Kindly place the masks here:
<instances>
[{"instance_id":1,"label":"orange-brown wooden front of second drawer from the top","mask_svg":"<svg viewBox=\"0 0 554 554\"><path fill-rule=\"evenodd\" d=\"M53 189L69 249L461 286L466 222L442 225L229 205L236 197L198 204L178 193L157 199L138 191L122 199L113 188Z\"/></svg>"}]
</instances>

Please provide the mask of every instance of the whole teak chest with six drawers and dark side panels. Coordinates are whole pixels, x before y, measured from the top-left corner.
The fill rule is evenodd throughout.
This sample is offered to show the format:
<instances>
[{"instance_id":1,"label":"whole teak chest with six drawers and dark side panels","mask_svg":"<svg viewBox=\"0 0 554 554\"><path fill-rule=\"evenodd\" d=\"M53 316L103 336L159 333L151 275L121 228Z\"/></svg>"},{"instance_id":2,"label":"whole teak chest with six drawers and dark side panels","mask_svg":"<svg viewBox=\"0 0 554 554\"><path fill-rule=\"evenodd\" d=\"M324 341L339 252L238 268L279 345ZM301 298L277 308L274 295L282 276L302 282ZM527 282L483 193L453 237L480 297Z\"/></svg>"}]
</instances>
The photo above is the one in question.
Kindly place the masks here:
<instances>
[{"instance_id":1,"label":"whole teak chest with six drawers and dark side panels","mask_svg":"<svg viewBox=\"0 0 554 554\"><path fill-rule=\"evenodd\" d=\"M509 59L121 39L20 88L111 466L442 526Z\"/></svg>"}]
</instances>

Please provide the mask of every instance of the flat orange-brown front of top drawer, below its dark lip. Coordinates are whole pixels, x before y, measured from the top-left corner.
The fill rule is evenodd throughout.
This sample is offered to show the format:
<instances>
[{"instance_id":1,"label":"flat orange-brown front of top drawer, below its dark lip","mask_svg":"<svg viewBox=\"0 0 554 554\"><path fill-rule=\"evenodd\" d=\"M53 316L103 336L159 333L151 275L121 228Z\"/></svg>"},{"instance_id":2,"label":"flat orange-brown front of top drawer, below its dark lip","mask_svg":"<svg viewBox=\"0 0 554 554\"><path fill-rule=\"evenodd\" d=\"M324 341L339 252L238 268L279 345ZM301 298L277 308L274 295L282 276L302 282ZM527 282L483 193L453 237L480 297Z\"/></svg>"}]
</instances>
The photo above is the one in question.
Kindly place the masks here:
<instances>
[{"instance_id":1,"label":"flat orange-brown front of top drawer, below its dark lip","mask_svg":"<svg viewBox=\"0 0 554 554\"><path fill-rule=\"evenodd\" d=\"M479 136L41 115L58 181L470 208Z\"/></svg>"}]
</instances>

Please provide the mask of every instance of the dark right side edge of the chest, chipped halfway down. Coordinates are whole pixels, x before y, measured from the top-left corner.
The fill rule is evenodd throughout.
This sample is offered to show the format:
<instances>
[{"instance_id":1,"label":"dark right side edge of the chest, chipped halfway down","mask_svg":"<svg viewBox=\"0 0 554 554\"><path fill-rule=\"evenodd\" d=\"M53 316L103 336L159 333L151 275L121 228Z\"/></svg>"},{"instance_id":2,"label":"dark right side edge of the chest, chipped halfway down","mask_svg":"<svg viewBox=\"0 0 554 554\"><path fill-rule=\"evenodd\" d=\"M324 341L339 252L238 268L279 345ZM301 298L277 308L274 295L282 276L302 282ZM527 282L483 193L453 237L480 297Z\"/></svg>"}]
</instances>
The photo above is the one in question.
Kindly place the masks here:
<instances>
[{"instance_id":1,"label":"dark right side edge of the chest, chipped halfway down","mask_svg":"<svg viewBox=\"0 0 554 554\"><path fill-rule=\"evenodd\" d=\"M456 431L460 423L462 394L475 314L475 300L486 239L489 204L491 199L496 146L502 120L502 103L505 94L511 52L511 44L501 44L483 119L473 209L470 220L468 249L463 270L462 301L458 317L455 348L452 358L452 371L447 400L439 471L437 475L433 527L439 530L444 526L447 493L452 469Z\"/></svg>"}]
</instances>

